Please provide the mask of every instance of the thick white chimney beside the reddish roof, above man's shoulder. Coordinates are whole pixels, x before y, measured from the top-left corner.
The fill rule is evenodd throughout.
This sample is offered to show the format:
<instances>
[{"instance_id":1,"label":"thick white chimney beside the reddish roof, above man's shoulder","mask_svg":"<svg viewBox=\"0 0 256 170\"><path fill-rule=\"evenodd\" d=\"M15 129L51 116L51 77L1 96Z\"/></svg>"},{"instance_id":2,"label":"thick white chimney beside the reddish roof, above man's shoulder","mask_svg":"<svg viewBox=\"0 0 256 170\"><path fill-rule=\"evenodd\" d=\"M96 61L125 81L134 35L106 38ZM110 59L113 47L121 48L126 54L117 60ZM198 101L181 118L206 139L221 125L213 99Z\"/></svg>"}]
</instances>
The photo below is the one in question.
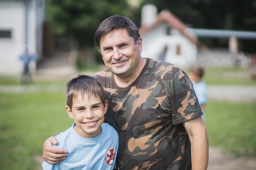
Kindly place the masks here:
<instances>
[{"instance_id":1,"label":"thick white chimney beside the reddish roof, above man's shoulder","mask_svg":"<svg viewBox=\"0 0 256 170\"><path fill-rule=\"evenodd\" d=\"M157 16L157 7L152 4L147 4L142 7L141 25L151 24Z\"/></svg>"}]
</instances>

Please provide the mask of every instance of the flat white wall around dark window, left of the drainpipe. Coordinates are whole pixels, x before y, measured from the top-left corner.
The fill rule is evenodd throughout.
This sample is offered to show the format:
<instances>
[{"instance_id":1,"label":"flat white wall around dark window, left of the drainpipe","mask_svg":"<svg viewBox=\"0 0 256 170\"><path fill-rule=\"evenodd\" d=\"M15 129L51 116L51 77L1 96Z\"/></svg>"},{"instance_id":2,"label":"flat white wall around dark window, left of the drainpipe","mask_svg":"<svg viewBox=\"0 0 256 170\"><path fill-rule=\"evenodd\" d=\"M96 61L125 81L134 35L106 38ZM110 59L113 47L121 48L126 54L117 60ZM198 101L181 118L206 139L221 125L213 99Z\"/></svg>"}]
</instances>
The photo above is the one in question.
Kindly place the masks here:
<instances>
[{"instance_id":1,"label":"flat white wall around dark window, left of the drainpipe","mask_svg":"<svg viewBox=\"0 0 256 170\"><path fill-rule=\"evenodd\" d=\"M0 29L11 30L11 38L0 38L0 74L22 70L18 56L24 44L24 15L21 1L0 1Z\"/></svg>"}]
</instances>

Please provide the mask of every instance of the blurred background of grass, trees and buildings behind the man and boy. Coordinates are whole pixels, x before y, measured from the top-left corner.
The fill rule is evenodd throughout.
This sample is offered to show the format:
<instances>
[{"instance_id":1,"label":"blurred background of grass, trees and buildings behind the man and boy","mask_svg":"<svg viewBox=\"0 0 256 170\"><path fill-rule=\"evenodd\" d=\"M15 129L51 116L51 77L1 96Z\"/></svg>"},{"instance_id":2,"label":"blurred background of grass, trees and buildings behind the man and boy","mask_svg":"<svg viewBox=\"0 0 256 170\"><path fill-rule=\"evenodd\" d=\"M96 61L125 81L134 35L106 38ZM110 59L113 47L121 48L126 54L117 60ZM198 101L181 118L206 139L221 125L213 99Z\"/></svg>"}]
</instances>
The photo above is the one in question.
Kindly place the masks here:
<instances>
[{"instance_id":1,"label":"blurred background of grass, trees and buildings behind the man and boy","mask_svg":"<svg viewBox=\"0 0 256 170\"><path fill-rule=\"evenodd\" d=\"M93 36L113 14L138 26L142 57L204 68L208 169L253 169L256 0L0 0L0 169L41 168L73 122L66 82L105 69Z\"/></svg>"}]
</instances>

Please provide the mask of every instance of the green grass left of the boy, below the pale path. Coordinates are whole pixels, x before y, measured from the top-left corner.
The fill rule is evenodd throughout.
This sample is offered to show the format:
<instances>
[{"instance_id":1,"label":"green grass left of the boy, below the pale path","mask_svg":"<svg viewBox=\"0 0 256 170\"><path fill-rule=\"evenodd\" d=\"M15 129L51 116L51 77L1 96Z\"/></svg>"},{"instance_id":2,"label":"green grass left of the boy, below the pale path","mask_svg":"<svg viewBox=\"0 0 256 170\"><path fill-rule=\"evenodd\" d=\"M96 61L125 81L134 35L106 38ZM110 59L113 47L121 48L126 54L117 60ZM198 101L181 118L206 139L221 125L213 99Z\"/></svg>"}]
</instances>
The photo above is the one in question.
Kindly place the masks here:
<instances>
[{"instance_id":1,"label":"green grass left of the boy, below the pale path","mask_svg":"<svg viewBox=\"0 0 256 170\"><path fill-rule=\"evenodd\" d=\"M44 141L72 125L65 91L0 96L0 169L35 169L34 156L42 156Z\"/></svg>"}]
</instances>

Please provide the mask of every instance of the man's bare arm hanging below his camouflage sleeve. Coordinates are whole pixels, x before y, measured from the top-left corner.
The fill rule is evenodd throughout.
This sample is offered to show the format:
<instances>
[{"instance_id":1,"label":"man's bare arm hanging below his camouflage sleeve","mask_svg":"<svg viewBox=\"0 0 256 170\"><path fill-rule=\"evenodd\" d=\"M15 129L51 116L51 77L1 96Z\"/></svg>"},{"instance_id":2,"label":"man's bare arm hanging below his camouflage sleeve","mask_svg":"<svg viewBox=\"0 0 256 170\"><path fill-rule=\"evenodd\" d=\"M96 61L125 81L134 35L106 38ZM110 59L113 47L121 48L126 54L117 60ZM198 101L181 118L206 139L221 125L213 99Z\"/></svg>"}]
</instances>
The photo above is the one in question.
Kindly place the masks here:
<instances>
[{"instance_id":1,"label":"man's bare arm hanging below his camouflage sleeve","mask_svg":"<svg viewBox=\"0 0 256 170\"><path fill-rule=\"evenodd\" d=\"M192 170L206 170L208 166L209 141L201 116L182 123L191 142Z\"/></svg>"}]
</instances>

